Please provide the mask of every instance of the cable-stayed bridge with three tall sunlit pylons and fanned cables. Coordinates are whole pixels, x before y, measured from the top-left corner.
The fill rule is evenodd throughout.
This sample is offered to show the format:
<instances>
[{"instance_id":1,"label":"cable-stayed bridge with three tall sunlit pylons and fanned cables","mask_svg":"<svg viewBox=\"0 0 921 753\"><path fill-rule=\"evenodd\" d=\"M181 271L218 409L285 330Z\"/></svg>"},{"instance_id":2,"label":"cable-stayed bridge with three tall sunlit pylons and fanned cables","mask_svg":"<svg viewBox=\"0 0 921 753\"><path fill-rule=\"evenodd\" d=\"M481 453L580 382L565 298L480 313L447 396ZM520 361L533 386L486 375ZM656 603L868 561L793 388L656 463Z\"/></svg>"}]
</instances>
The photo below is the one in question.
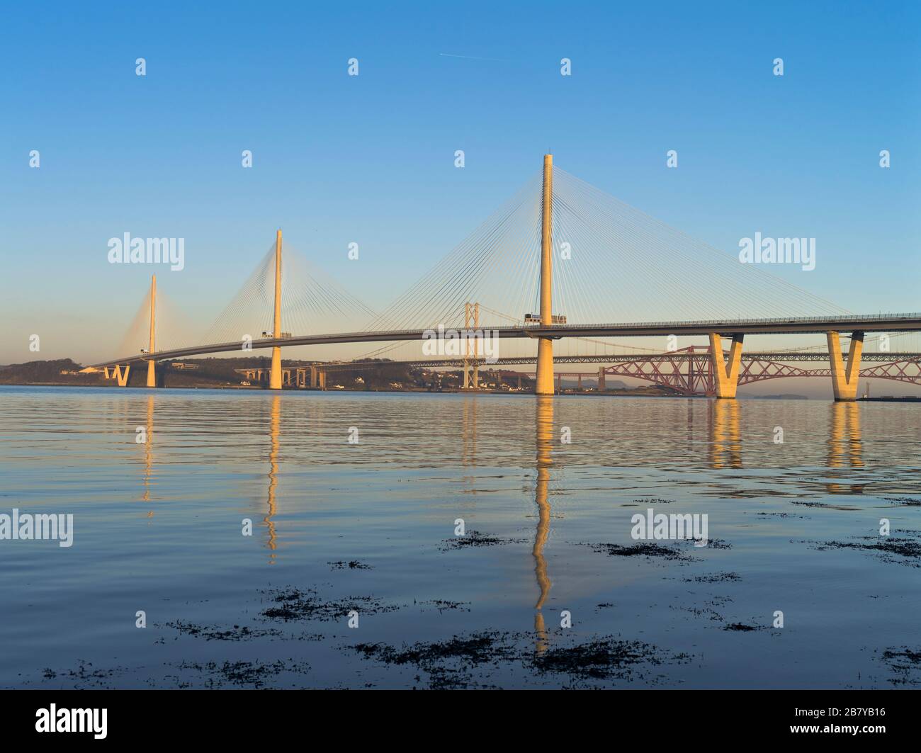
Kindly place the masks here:
<instances>
[{"instance_id":1,"label":"cable-stayed bridge with three tall sunlit pylons and fanned cables","mask_svg":"<svg viewBox=\"0 0 921 753\"><path fill-rule=\"evenodd\" d=\"M785 261L799 261L800 239L781 240L783 248L775 252L781 258L786 254ZM801 240L805 244L807 239ZM122 354L96 367L107 374L114 367L115 378L126 384L131 365L146 362L147 386L155 387L157 361L271 349L269 387L279 389L286 347L385 343L366 358L388 355L400 361L394 356L411 347L417 357L402 360L417 363L420 343L427 353L425 348L437 341L439 353L461 357L465 387L476 388L485 349L497 349L502 342L506 358L530 355L535 360L539 395L554 394L555 348L557 358L607 359L601 361L612 364L606 373L623 374L617 365L645 363L652 372L635 368L624 376L733 398L740 383L758 380L752 359L742 359L746 335L821 334L836 400L857 396L865 339L879 342L880 353L892 365L877 368L872 376L916 384L921 372L916 353L890 352L891 339L921 331L921 314L846 311L787 283L763 264L743 264L554 168L549 155L541 173L382 312L290 249L283 255L280 230L208 330L190 337L181 319L164 321L164 310L169 307L157 294L155 276ZM842 336L849 341L845 352ZM682 355L674 344L679 337L705 337L709 345ZM666 338L670 346L624 353L622 343L611 342L626 338ZM725 353L724 339L729 341ZM512 343L520 353L507 353ZM594 353L571 353L571 343L593 347ZM674 376L663 376L658 365L666 362L685 363L687 373L678 369ZM784 353L774 353L769 363L783 365ZM446 358L444 365L450 364ZM810 376L803 369L779 366L761 374Z\"/></svg>"}]
</instances>

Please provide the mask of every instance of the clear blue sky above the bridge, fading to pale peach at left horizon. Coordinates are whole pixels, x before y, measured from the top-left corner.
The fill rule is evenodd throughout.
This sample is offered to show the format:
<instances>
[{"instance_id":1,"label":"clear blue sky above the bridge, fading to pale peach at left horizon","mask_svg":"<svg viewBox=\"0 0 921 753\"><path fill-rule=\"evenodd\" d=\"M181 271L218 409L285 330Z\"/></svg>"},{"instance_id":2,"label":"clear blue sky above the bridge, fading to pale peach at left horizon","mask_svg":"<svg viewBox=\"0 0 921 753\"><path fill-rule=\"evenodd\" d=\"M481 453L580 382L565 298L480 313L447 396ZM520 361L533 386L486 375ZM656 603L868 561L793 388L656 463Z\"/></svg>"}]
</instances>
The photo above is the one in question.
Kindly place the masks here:
<instances>
[{"instance_id":1,"label":"clear blue sky above the bridge, fading to pale peach at left horizon","mask_svg":"<svg viewBox=\"0 0 921 753\"><path fill-rule=\"evenodd\" d=\"M38 357L111 357L151 272L108 263L124 232L186 239L160 285L200 319L279 226L383 308L548 148L719 249L816 237L792 282L917 311L919 37L916 2L8 4L0 363L32 333Z\"/></svg>"}]
</instances>

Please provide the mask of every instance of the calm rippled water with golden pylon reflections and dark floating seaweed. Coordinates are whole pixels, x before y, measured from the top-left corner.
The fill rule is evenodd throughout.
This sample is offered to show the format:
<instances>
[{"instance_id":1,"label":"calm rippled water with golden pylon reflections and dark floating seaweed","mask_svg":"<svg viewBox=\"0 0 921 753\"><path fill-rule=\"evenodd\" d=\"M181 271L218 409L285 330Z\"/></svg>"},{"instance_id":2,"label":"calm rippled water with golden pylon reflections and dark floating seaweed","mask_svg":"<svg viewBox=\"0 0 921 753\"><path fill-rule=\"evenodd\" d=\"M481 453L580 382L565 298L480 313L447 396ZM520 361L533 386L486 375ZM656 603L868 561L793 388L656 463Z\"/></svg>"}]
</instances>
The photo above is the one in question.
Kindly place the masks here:
<instances>
[{"instance_id":1,"label":"calm rippled water with golden pylon reflections and dark floating seaweed","mask_svg":"<svg viewBox=\"0 0 921 753\"><path fill-rule=\"evenodd\" d=\"M0 436L0 513L75 526L0 541L3 687L921 684L921 406L0 388Z\"/></svg>"}]
</instances>

